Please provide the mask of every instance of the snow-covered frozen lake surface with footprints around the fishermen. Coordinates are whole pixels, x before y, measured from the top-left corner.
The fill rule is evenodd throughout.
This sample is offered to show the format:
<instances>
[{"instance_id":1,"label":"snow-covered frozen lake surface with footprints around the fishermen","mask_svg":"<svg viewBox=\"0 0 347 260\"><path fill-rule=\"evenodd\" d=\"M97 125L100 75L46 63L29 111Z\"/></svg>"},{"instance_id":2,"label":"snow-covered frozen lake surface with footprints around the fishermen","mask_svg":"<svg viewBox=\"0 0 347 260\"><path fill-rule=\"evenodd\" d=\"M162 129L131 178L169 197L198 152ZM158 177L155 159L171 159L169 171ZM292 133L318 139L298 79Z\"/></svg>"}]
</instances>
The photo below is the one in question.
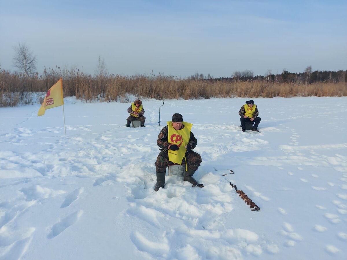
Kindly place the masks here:
<instances>
[{"instance_id":1,"label":"snow-covered frozen lake surface with footprints around the fishermen","mask_svg":"<svg viewBox=\"0 0 347 260\"><path fill-rule=\"evenodd\" d=\"M0 108L0 259L347 259L347 98L253 99L259 133L240 130L245 98L167 100L160 127L162 101L143 100L136 129L130 103L65 98L66 137L62 107ZM173 113L204 188L153 190Z\"/></svg>"}]
</instances>

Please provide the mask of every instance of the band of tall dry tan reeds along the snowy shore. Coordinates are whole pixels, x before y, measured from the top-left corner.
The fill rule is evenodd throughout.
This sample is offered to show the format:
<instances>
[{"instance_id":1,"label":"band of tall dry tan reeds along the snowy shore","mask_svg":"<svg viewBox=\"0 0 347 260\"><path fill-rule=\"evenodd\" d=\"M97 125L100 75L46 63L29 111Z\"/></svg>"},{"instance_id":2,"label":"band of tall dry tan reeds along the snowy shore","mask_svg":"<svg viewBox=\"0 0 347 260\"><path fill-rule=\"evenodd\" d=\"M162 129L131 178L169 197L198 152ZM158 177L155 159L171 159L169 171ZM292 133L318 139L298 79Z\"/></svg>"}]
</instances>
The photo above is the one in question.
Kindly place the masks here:
<instances>
[{"instance_id":1,"label":"band of tall dry tan reeds along the snowy shore","mask_svg":"<svg viewBox=\"0 0 347 260\"><path fill-rule=\"evenodd\" d=\"M47 90L63 78L64 96L76 96L86 102L125 101L127 95L139 98L194 99L210 97L294 97L294 96L347 96L347 83L268 83L256 81L219 81L178 79L173 76L131 77L108 75L92 77L77 69L72 71L48 69L44 75L23 77L0 71L0 107L39 102Z\"/></svg>"}]
</instances>

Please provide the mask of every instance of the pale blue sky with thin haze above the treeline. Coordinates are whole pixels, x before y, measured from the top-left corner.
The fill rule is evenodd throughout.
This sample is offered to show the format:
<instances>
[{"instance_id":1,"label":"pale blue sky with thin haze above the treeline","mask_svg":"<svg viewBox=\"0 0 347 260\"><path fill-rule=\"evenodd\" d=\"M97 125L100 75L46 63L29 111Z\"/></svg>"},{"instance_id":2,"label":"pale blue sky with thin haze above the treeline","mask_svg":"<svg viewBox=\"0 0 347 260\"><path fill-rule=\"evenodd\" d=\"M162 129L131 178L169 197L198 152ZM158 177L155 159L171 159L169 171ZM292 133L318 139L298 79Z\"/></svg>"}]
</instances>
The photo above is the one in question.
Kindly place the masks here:
<instances>
[{"instance_id":1,"label":"pale blue sky with thin haze above the treeline","mask_svg":"<svg viewBox=\"0 0 347 260\"><path fill-rule=\"evenodd\" d=\"M0 64L25 42L44 66L230 77L347 70L347 1L0 0Z\"/></svg>"}]
</instances>

